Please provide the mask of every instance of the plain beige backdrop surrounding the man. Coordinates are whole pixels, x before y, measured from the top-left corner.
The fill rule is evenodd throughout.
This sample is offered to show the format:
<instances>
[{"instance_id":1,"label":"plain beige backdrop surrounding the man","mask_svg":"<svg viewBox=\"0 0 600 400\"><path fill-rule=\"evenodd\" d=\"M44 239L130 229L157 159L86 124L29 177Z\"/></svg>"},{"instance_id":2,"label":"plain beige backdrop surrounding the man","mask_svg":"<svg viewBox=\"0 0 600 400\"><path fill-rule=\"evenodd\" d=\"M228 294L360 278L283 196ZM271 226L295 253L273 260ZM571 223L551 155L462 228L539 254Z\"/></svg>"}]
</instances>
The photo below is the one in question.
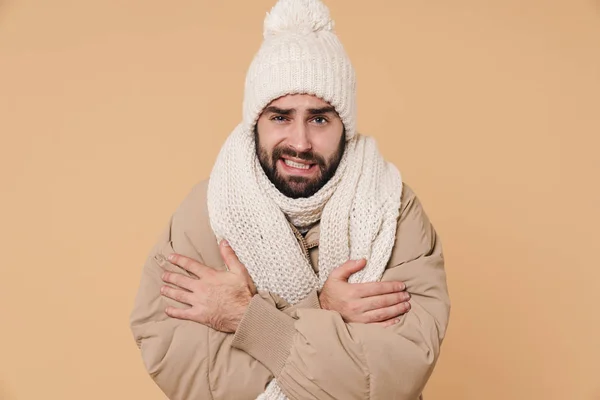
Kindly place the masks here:
<instances>
[{"instance_id":1,"label":"plain beige backdrop surrounding the man","mask_svg":"<svg viewBox=\"0 0 600 400\"><path fill-rule=\"evenodd\" d=\"M273 1L0 0L1 399L163 399L140 268L241 117ZM328 4L359 128L444 242L427 399L600 399L598 1Z\"/></svg>"}]
</instances>

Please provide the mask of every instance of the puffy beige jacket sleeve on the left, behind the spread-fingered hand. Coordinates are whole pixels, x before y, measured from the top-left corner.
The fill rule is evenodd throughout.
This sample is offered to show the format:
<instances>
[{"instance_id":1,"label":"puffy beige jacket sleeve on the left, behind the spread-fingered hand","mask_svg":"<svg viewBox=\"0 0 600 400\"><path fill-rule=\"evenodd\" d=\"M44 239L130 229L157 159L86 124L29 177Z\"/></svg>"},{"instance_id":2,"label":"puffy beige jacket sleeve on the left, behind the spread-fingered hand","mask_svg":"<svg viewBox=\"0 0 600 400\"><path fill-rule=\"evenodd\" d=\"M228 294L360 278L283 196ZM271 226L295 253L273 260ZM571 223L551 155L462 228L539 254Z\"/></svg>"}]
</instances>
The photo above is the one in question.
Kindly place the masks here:
<instances>
[{"instance_id":1,"label":"puffy beige jacket sleeve on the left, behind the spread-fingered hand","mask_svg":"<svg viewBox=\"0 0 600 400\"><path fill-rule=\"evenodd\" d=\"M146 370L169 399L255 399L273 378L271 371L248 353L232 347L232 334L173 319L164 312L168 305L182 305L160 295L162 273L186 273L167 261L170 253L223 268L220 256L214 254L218 252L214 237L206 237L211 231L202 209L205 191L205 185L199 184L190 193L150 251L142 269L130 327ZM204 250L207 257L203 257ZM274 309L285 308L288 314L297 309L266 292L257 296ZM316 293L312 294L303 306L314 307L316 299ZM285 312L282 313L287 315Z\"/></svg>"}]
</instances>

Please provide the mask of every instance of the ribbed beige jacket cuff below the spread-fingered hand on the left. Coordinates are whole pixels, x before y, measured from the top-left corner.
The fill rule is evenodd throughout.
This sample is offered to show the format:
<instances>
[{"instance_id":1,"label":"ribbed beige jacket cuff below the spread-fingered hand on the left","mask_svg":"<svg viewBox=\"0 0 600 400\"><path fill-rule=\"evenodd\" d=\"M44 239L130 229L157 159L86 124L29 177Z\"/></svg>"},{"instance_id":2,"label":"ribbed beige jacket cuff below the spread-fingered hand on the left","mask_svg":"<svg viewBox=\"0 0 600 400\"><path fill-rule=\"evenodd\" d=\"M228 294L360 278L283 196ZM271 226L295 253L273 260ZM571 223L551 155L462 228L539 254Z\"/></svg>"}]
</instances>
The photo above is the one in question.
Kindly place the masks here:
<instances>
[{"instance_id":1,"label":"ribbed beige jacket cuff below the spread-fingered hand on the left","mask_svg":"<svg viewBox=\"0 0 600 400\"><path fill-rule=\"evenodd\" d=\"M248 353L279 376L296 333L294 319L255 295L233 336L232 347Z\"/></svg>"}]
</instances>

